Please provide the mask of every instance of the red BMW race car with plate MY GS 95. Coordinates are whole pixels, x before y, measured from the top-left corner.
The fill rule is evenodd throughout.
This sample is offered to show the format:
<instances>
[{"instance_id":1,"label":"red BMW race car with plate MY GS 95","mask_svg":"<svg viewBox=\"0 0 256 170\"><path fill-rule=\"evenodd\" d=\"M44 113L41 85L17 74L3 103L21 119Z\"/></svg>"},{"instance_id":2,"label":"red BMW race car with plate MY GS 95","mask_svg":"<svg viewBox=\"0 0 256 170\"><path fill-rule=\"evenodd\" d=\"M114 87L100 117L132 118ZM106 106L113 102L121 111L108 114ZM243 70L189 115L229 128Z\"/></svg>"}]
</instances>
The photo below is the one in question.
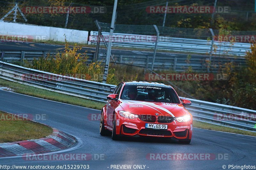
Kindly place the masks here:
<instances>
[{"instance_id":1,"label":"red BMW race car with plate MY GS 95","mask_svg":"<svg viewBox=\"0 0 256 170\"><path fill-rule=\"evenodd\" d=\"M112 132L112 139L128 137L172 137L189 144L192 137L192 115L170 85L130 81L116 86L102 108L100 135Z\"/></svg>"}]
</instances>

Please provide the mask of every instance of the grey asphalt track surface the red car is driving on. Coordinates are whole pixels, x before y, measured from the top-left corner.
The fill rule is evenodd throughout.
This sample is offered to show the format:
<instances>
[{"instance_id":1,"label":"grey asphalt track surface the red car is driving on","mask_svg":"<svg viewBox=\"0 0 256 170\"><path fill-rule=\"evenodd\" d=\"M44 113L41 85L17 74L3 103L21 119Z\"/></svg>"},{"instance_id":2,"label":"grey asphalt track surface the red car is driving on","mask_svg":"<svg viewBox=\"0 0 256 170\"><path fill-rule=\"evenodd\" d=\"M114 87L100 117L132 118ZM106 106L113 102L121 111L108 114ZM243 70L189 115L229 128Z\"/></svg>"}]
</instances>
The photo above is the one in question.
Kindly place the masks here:
<instances>
[{"instance_id":1,"label":"grey asphalt track surface the red car is driving on","mask_svg":"<svg viewBox=\"0 0 256 170\"><path fill-rule=\"evenodd\" d=\"M256 165L256 138L204 129L193 129L190 144L161 139L126 139L113 141L100 136L99 121L88 120L99 110L0 90L0 110L15 114L46 114L45 123L79 139L80 146L66 153L105 154L105 160L27 161L22 158L0 159L0 165L75 165L88 164L90 169L111 169L111 165L146 165L145 169L222 169L223 165ZM148 153L227 154L221 160L148 160ZM109 168L108 168L109 167ZM112 168L113 169L113 168Z\"/></svg>"}]
</instances>

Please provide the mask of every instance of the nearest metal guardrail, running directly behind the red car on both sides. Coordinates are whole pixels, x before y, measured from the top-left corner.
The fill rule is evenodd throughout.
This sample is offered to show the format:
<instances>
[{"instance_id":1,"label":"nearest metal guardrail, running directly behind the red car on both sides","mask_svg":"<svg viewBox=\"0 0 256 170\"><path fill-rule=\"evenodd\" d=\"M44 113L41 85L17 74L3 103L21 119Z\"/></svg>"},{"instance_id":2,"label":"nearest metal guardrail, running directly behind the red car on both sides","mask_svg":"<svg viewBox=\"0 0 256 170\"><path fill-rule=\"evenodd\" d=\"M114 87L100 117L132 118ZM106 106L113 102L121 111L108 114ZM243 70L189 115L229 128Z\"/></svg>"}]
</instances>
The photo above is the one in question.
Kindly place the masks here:
<instances>
[{"instance_id":1,"label":"nearest metal guardrail, running directly behind the red car on both sides","mask_svg":"<svg viewBox=\"0 0 256 170\"><path fill-rule=\"evenodd\" d=\"M105 102L107 95L116 87L115 85L71 78L5 62L0 62L0 78L36 85L41 88L54 89L58 92L67 92L68 94L100 102ZM194 120L256 132L254 128L256 124L255 110L202 100L188 100L192 102L192 105L187 106L187 109L192 113ZM235 115L235 118L229 120L230 114ZM252 118L252 120L240 119L239 116L242 117L243 115Z\"/></svg>"}]
</instances>

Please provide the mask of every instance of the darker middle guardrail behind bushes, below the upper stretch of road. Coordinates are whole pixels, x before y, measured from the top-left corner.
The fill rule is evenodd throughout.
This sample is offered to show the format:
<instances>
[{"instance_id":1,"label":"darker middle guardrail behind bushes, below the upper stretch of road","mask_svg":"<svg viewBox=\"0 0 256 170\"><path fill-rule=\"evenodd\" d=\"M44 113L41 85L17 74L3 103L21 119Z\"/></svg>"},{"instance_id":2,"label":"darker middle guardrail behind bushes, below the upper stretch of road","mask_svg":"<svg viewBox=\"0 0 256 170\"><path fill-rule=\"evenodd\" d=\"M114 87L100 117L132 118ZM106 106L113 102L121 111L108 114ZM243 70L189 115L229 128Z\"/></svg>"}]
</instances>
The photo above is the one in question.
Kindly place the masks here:
<instances>
[{"instance_id":1,"label":"darker middle guardrail behind bushes, below the upper stretch of road","mask_svg":"<svg viewBox=\"0 0 256 170\"><path fill-rule=\"evenodd\" d=\"M98 61L105 61L106 56L104 51L98 56ZM0 60L8 63L23 62L27 60L31 62L34 58L47 55L55 55L56 51L7 51L0 50ZM125 51L125 50L112 50L113 57L118 63L133 64L136 66L142 66L145 68L152 68L153 52L147 51ZM95 53L86 53L87 63L91 63L95 60ZM134 60L136 59L136 63ZM189 67L196 72L208 71L209 55L190 55L188 61L188 54L172 54L172 53L156 53L154 62L155 70L174 70L174 71L186 71ZM164 61L164 62L163 62ZM246 61L244 57L223 57L214 56L211 59L211 72L218 72L220 67L223 67L224 63L234 62L237 66L245 66Z\"/></svg>"}]
</instances>

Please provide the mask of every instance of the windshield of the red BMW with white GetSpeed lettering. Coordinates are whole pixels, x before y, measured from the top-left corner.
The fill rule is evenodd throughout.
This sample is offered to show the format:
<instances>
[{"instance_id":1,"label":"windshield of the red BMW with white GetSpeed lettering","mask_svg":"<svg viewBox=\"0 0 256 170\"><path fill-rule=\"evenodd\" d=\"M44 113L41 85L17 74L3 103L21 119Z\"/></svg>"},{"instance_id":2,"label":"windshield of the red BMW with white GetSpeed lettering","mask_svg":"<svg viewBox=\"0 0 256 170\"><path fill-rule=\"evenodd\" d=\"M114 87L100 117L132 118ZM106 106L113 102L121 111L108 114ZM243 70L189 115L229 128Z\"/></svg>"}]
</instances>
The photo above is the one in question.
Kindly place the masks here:
<instances>
[{"instance_id":1,"label":"windshield of the red BMW with white GetSpeed lettering","mask_svg":"<svg viewBox=\"0 0 256 170\"><path fill-rule=\"evenodd\" d=\"M180 103L172 88L152 85L125 85L121 99Z\"/></svg>"}]
</instances>

